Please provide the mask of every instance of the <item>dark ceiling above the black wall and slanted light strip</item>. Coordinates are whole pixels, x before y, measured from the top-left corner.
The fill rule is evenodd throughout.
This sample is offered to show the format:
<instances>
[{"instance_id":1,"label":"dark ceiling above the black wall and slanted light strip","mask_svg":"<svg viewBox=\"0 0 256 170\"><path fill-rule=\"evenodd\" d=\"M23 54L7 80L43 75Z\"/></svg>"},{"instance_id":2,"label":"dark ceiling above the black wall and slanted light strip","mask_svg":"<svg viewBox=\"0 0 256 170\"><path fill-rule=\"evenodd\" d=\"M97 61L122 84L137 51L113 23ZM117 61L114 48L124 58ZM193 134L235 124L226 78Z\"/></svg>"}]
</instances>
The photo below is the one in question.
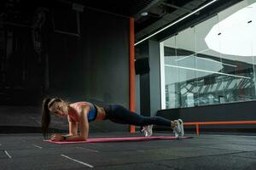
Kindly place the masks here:
<instances>
[{"instance_id":1,"label":"dark ceiling above the black wall and slanted light strip","mask_svg":"<svg viewBox=\"0 0 256 170\"><path fill-rule=\"evenodd\" d=\"M178 20L184 15L191 13L196 8L211 1L212 0L45 0L43 2L66 3L71 5L79 4L79 6L83 8L93 8L122 17L133 17L135 19L135 37L137 42L143 37L147 37L154 31L172 23L174 20ZM231 5L239 1L241 0L218 0L216 3L212 3L212 5L203 12L201 11L194 14L194 19L193 17L190 18L191 20L195 20L196 17L200 18L203 13L209 13L211 10L220 8L224 3ZM42 1L39 0L1 0L0 9L3 10L6 7L14 8L12 5L14 6L22 2L26 2L26 6L30 6L30 3L42 3ZM148 14L143 16L143 12L147 12Z\"/></svg>"}]
</instances>

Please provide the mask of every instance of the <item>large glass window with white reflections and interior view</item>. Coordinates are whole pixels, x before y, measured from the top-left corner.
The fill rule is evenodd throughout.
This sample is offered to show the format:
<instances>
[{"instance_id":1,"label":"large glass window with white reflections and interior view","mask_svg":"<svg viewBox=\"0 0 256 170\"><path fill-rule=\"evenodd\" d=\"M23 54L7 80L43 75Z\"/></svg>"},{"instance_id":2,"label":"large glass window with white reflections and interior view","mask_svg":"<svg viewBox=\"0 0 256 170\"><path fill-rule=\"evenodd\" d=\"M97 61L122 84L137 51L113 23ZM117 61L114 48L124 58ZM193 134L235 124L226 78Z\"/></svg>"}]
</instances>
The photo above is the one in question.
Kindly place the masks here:
<instances>
[{"instance_id":1,"label":"large glass window with white reflections and interior view","mask_svg":"<svg viewBox=\"0 0 256 170\"><path fill-rule=\"evenodd\" d=\"M256 0L160 42L163 109L256 99Z\"/></svg>"}]
</instances>

